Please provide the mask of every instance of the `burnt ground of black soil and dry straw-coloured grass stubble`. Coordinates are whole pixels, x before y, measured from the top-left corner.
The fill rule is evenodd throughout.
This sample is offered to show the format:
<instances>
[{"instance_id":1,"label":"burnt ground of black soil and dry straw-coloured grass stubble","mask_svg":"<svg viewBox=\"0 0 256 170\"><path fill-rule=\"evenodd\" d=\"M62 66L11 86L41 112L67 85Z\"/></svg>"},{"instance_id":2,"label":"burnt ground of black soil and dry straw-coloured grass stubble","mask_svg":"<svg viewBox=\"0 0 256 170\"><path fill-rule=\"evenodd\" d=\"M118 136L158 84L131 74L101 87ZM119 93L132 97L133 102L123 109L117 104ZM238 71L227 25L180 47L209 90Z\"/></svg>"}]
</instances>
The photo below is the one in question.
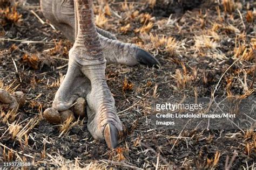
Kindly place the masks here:
<instances>
[{"instance_id":1,"label":"burnt ground of black soil and dry straw-coloured grass stubble","mask_svg":"<svg viewBox=\"0 0 256 170\"><path fill-rule=\"evenodd\" d=\"M93 140L86 129L86 118L60 137L60 125L43 119L42 112L51 107L66 73L72 44L46 21L38 1L22 2L17 4L18 15L12 16L1 4L0 79L4 87L17 86L16 91L26 96L15 119L4 122L2 117L0 122L1 164L24 161L36 168L63 169L167 168L169 164L169 168L178 169L224 169L230 163L231 169L253 169L255 127L152 129L149 119L154 114L153 102L175 97L211 98L214 93L215 97L255 101L255 87L250 89L255 62L252 48L256 48L255 2L207 1L178 12L159 3L111 1L109 10L98 4L105 1L95 2L98 26L119 40L147 49L162 65L159 69L107 66L107 83L125 127L123 140L115 150ZM172 12L176 13L169 17ZM252 116L255 120L254 112ZM22 128L29 124L20 138L9 133L14 121Z\"/></svg>"}]
</instances>

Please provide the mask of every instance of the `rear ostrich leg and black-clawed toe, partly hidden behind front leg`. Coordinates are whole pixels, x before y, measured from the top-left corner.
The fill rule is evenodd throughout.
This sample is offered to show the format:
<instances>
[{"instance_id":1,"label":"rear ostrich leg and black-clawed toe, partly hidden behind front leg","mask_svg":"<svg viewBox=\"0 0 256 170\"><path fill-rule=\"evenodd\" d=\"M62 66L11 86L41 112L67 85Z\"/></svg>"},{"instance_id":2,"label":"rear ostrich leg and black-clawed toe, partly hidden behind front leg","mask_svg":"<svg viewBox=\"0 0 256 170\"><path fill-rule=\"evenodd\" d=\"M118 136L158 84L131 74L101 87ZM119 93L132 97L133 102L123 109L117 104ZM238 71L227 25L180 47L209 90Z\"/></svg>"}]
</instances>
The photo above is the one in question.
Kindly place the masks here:
<instances>
[{"instance_id":1,"label":"rear ostrich leg and black-clawed toe, partly hidden behind front leg","mask_svg":"<svg viewBox=\"0 0 256 170\"><path fill-rule=\"evenodd\" d=\"M76 22L73 0L41 0L41 8L45 18L57 27L70 41L75 41ZM121 63L134 66L142 63L146 66L160 66L154 56L136 45L116 40L116 37L105 30L96 27L99 41L107 64Z\"/></svg>"}]
</instances>

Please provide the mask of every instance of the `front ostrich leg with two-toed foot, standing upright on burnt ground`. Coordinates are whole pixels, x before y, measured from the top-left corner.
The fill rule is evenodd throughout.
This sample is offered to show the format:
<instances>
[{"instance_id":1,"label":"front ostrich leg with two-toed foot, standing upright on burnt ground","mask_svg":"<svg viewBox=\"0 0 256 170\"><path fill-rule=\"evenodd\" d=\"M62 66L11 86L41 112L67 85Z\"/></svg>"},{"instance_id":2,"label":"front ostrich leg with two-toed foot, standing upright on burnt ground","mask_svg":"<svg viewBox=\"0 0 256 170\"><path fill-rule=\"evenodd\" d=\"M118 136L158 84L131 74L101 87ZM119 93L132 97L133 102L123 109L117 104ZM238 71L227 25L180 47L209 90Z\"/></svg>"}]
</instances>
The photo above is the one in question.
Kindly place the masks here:
<instances>
[{"instance_id":1,"label":"front ostrich leg with two-toed foot, standing upright on burnt ground","mask_svg":"<svg viewBox=\"0 0 256 170\"><path fill-rule=\"evenodd\" d=\"M93 138L117 146L122 123L105 78L106 60L93 23L92 0L75 0L76 38L69 52L69 67L52 107L67 110L78 97L87 101L87 128Z\"/></svg>"}]
</instances>

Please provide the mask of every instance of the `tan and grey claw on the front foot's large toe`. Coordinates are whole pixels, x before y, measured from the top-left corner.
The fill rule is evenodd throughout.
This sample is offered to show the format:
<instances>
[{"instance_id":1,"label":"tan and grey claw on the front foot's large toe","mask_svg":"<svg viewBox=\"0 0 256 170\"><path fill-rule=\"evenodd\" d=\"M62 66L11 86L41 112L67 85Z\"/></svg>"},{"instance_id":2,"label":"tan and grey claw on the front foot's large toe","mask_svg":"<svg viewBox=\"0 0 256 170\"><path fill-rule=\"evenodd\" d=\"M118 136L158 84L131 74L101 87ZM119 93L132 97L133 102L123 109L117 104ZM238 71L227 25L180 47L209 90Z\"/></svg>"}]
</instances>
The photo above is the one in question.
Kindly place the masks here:
<instances>
[{"instance_id":1,"label":"tan and grey claw on the front foot's large toe","mask_svg":"<svg viewBox=\"0 0 256 170\"><path fill-rule=\"evenodd\" d=\"M111 123L106 124L104 129L104 138L105 138L107 147L109 147L110 149L117 147L118 131L113 124Z\"/></svg>"}]
</instances>

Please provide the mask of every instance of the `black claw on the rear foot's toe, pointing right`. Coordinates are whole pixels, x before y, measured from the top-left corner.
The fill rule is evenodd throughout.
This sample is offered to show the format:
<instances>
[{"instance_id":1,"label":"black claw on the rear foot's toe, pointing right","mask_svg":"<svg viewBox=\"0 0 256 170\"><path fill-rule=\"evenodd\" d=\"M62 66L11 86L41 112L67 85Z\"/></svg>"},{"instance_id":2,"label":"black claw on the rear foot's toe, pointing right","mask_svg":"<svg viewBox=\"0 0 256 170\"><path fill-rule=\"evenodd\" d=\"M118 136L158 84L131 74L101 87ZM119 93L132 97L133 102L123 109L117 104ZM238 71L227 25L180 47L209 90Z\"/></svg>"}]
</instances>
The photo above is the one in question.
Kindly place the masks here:
<instances>
[{"instance_id":1,"label":"black claw on the rear foot's toe, pointing right","mask_svg":"<svg viewBox=\"0 0 256 170\"><path fill-rule=\"evenodd\" d=\"M137 49L136 59L143 65L150 67L156 66L158 68L160 67L160 62L156 58L154 58L153 55L151 55L149 52L146 52L142 48Z\"/></svg>"}]
</instances>

